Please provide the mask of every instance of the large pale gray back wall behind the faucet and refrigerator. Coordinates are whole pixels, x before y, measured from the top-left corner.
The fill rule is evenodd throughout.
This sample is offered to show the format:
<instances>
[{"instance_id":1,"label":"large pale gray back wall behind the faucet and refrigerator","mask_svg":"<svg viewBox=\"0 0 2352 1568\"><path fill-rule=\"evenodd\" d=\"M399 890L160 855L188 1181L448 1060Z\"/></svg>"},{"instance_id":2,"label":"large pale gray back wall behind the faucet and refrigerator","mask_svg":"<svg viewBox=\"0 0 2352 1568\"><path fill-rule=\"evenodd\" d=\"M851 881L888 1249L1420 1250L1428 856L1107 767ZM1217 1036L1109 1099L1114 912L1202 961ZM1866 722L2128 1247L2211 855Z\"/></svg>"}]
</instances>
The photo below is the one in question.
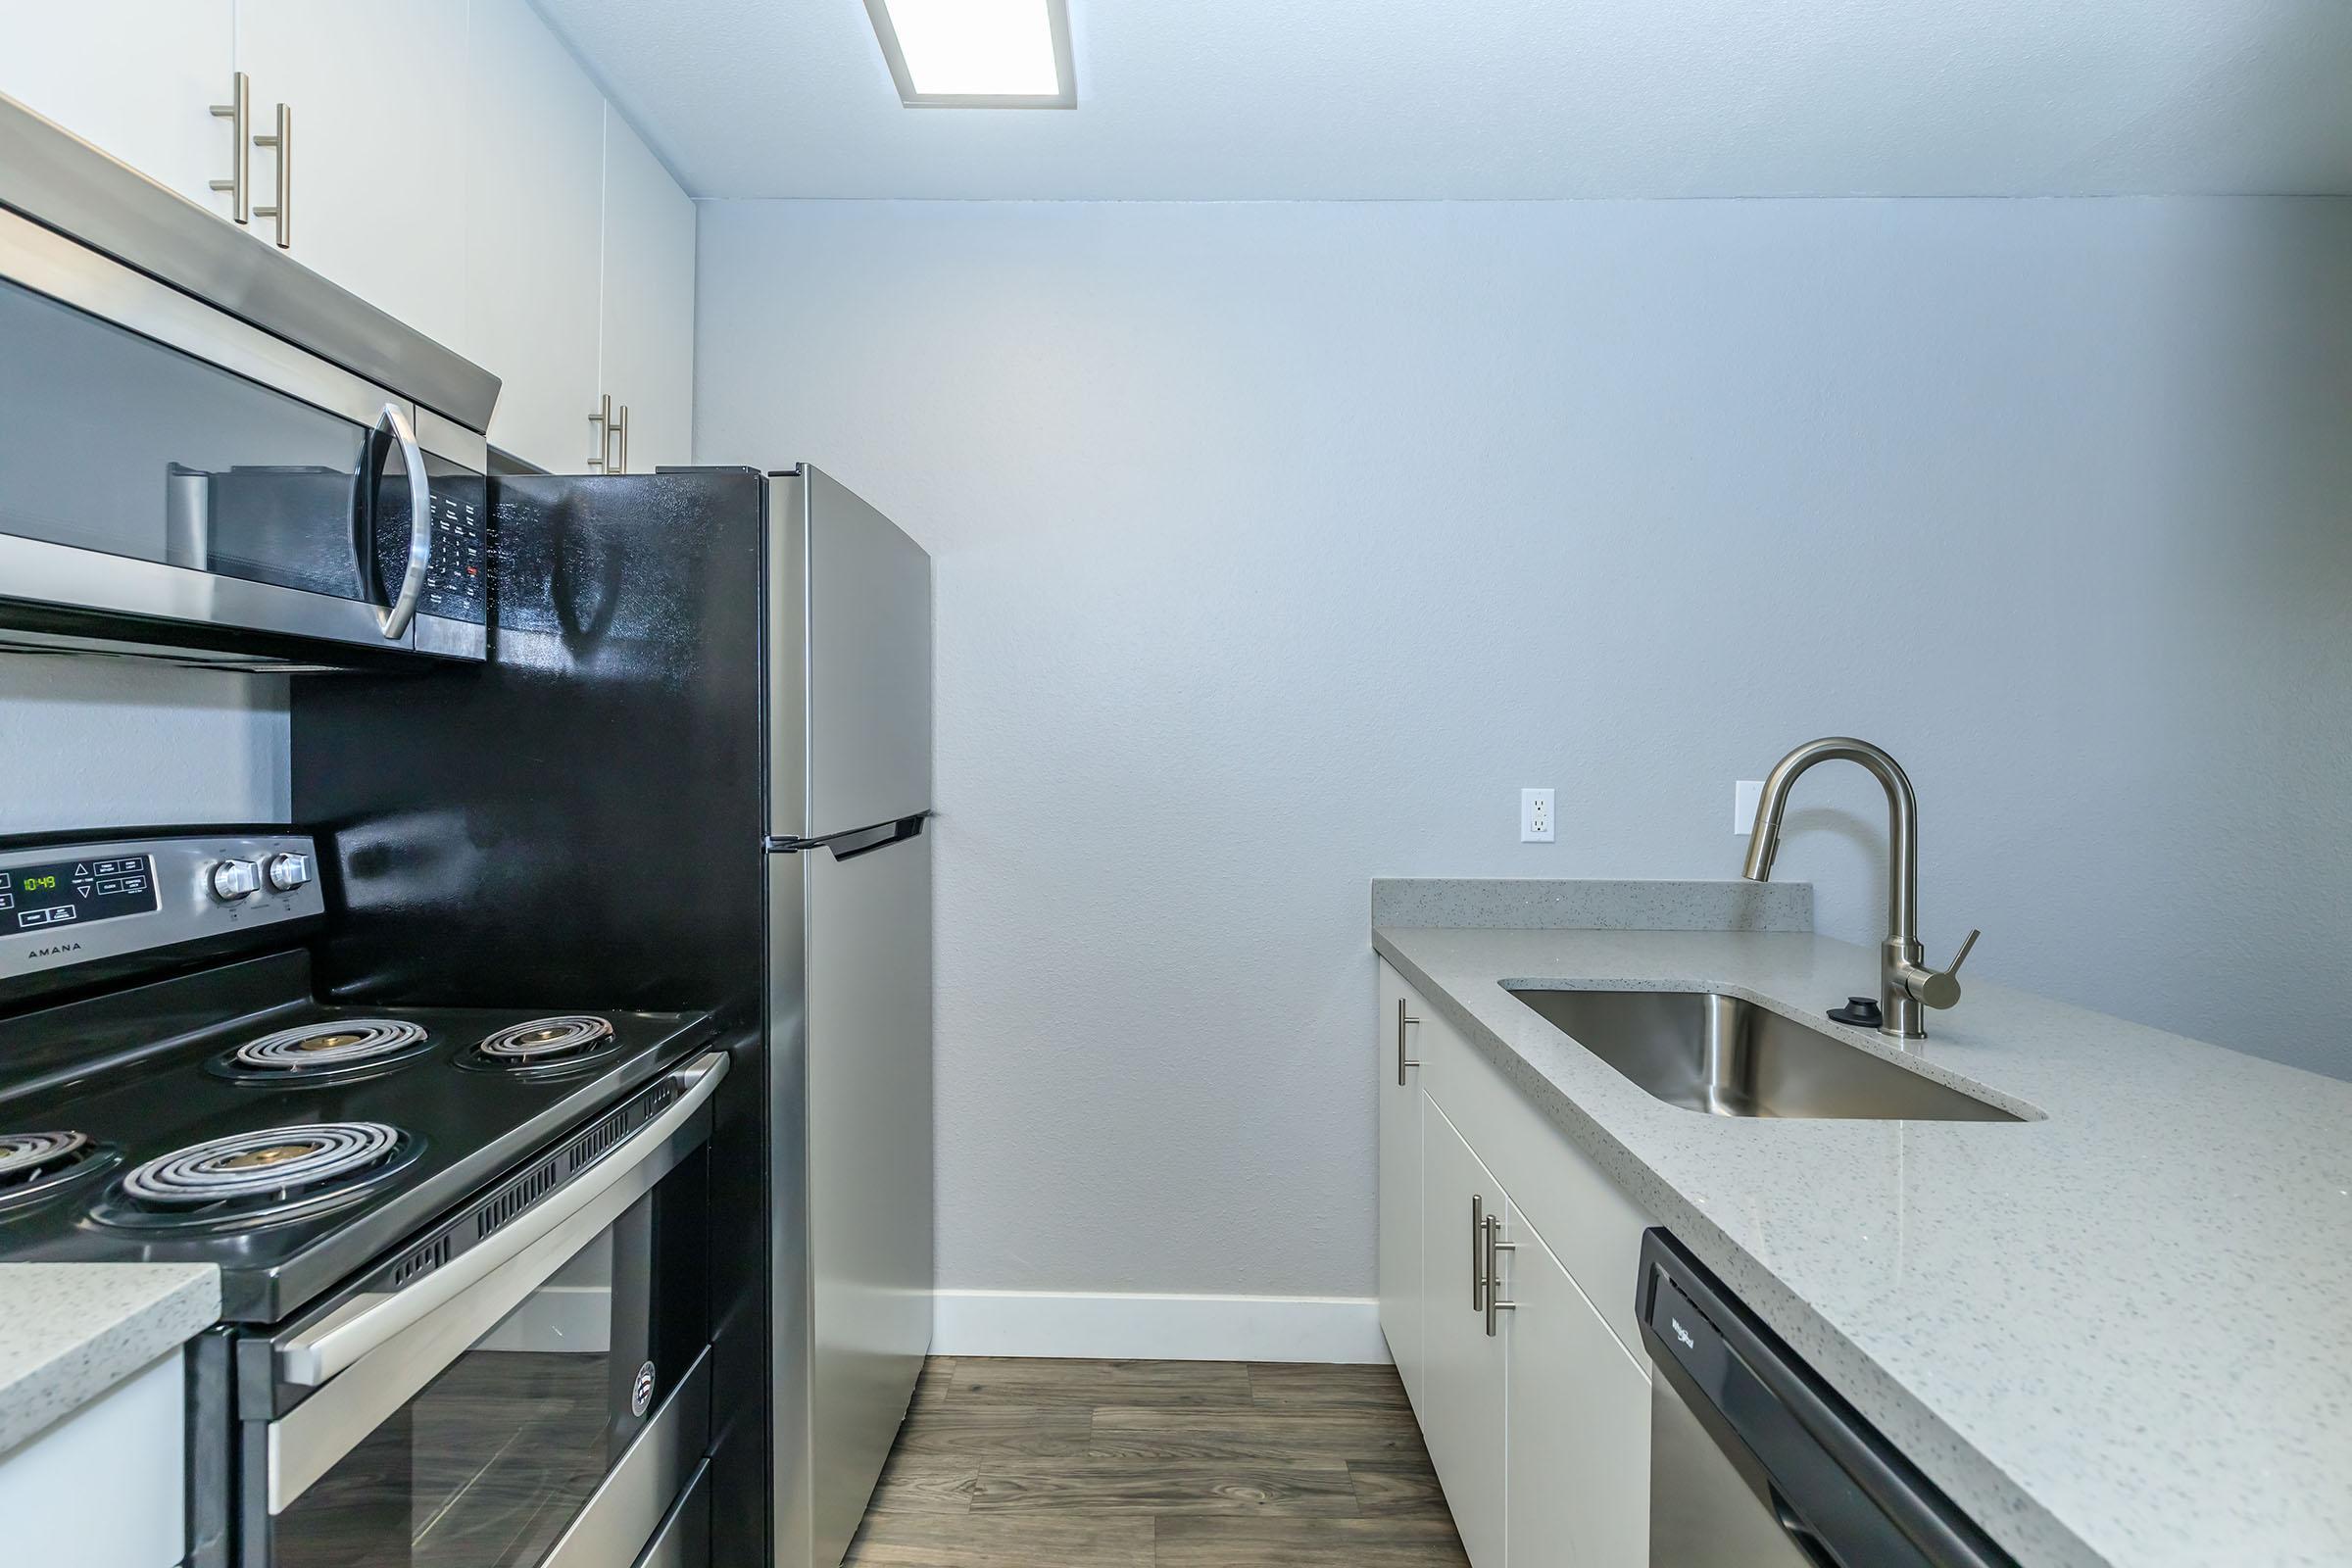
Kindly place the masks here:
<instances>
[{"instance_id":1,"label":"large pale gray back wall behind the faucet and refrigerator","mask_svg":"<svg viewBox=\"0 0 2352 1568\"><path fill-rule=\"evenodd\" d=\"M699 461L938 564L943 1284L1369 1293L1367 879L1733 875L1828 731L1933 957L2352 1070L2352 202L701 212Z\"/></svg>"}]
</instances>

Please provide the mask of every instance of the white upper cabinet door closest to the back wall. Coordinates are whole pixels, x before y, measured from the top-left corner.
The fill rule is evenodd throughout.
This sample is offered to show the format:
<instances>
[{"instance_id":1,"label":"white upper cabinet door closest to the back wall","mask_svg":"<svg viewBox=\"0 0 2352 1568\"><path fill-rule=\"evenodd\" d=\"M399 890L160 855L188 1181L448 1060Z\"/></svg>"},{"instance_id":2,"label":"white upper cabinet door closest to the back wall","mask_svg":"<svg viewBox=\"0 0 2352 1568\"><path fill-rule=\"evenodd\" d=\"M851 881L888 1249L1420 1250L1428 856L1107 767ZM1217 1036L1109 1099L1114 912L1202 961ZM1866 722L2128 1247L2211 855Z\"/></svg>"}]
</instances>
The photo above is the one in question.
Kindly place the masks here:
<instances>
[{"instance_id":1,"label":"white upper cabinet door closest to the back wall","mask_svg":"<svg viewBox=\"0 0 2352 1568\"><path fill-rule=\"evenodd\" d=\"M694 461L694 202L609 103L602 306L597 390L628 409L626 473Z\"/></svg>"}]
</instances>

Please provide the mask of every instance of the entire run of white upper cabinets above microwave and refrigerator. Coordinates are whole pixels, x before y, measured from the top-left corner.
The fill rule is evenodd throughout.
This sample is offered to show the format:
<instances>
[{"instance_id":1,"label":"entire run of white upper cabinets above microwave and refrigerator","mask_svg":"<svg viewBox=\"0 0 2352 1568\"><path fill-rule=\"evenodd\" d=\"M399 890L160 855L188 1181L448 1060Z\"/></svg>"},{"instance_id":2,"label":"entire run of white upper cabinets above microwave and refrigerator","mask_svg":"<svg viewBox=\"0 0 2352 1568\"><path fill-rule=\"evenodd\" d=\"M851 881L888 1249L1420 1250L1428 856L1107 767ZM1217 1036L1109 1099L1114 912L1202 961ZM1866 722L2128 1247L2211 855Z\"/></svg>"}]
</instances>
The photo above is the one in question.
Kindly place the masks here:
<instances>
[{"instance_id":1,"label":"entire run of white upper cabinets above microwave and refrigerator","mask_svg":"<svg viewBox=\"0 0 2352 1568\"><path fill-rule=\"evenodd\" d=\"M694 202L524 0L0 0L0 92L223 219L242 172L256 244L499 376L524 463L691 461Z\"/></svg>"}]
</instances>

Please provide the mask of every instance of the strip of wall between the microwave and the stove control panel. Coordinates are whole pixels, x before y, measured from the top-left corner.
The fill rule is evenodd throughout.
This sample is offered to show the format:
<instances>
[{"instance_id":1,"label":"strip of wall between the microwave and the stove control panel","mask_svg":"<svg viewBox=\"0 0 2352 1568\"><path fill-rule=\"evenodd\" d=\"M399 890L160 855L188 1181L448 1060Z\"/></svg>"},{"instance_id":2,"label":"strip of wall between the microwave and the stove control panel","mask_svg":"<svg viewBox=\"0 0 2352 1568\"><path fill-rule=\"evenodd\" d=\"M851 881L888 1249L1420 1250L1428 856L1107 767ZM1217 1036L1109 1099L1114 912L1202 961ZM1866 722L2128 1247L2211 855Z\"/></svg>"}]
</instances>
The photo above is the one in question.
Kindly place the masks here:
<instances>
[{"instance_id":1,"label":"strip of wall between the microwave and the stove control panel","mask_svg":"<svg viewBox=\"0 0 2352 1568\"><path fill-rule=\"evenodd\" d=\"M0 832L285 818L282 679L0 654Z\"/></svg>"}]
</instances>

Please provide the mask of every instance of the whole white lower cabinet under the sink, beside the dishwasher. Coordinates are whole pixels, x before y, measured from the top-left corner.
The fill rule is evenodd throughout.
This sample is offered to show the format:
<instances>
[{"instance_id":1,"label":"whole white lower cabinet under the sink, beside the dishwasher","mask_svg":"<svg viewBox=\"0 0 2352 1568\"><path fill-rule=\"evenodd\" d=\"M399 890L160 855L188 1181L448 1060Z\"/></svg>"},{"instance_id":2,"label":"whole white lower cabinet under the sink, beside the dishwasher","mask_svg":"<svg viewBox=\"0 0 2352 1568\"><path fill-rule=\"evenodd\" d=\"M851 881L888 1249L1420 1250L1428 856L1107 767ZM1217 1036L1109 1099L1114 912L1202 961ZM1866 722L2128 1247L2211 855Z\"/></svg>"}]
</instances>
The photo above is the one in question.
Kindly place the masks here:
<instances>
[{"instance_id":1,"label":"whole white lower cabinet under the sink, beside the dishwasher","mask_svg":"<svg viewBox=\"0 0 2352 1568\"><path fill-rule=\"evenodd\" d=\"M1378 994L1381 1328L1463 1552L1472 1568L1646 1568L1651 1371L1597 1305L1632 1300L1642 1213L1531 1107L1498 1103L1498 1074L1385 961Z\"/></svg>"}]
</instances>

